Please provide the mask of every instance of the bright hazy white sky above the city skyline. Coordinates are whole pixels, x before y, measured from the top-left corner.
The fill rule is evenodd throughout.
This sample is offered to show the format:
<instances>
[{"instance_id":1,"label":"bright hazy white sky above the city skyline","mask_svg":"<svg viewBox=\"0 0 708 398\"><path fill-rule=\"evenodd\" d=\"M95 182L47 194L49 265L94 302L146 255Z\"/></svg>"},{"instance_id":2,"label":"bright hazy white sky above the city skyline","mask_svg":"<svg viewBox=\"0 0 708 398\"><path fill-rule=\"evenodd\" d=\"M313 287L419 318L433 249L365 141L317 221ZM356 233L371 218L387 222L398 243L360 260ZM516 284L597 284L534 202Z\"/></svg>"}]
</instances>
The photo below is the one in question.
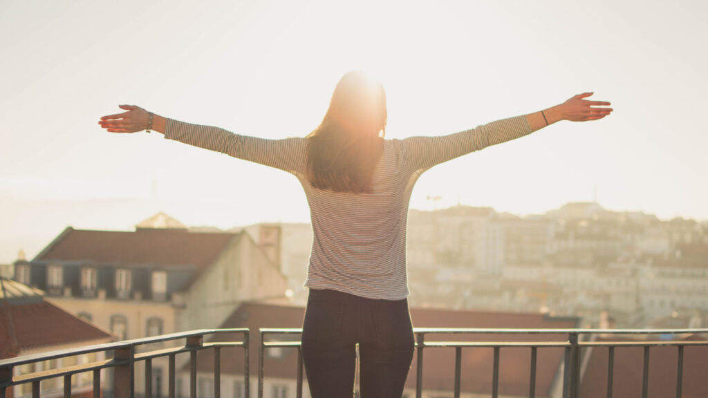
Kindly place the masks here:
<instances>
[{"instance_id":1,"label":"bright hazy white sky above the city skyline","mask_svg":"<svg viewBox=\"0 0 708 398\"><path fill-rule=\"evenodd\" d=\"M450 161L411 206L520 215L596 197L708 219L708 1L0 1L0 263L59 232L307 222L296 178L115 135L120 103L244 135L307 135L352 69L387 90L387 137L442 135L556 105L612 101ZM592 99L592 98L591 98Z\"/></svg>"}]
</instances>

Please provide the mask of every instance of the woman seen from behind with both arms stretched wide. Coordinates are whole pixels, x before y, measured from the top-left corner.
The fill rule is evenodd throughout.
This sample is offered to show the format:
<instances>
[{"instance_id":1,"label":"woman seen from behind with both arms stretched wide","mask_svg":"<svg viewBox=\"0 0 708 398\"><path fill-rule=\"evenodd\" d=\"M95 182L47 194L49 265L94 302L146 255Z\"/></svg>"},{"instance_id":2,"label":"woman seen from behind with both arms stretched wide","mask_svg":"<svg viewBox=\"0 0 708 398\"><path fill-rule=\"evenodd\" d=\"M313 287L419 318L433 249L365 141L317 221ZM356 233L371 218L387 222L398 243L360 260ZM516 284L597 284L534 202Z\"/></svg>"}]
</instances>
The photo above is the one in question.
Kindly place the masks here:
<instances>
[{"instance_id":1,"label":"woman seen from behind with both arms stretched wide","mask_svg":"<svg viewBox=\"0 0 708 398\"><path fill-rule=\"evenodd\" d=\"M307 137L265 140L153 115L137 106L101 118L108 132L152 130L170 140L277 167L302 183L314 242L302 354L314 398L351 397L355 344L362 397L401 397L413 356L406 282L406 218L413 185L435 166L559 120L598 120L610 103L592 93L529 115L443 137L384 140L382 85L350 72ZM462 176L464 178L464 175Z\"/></svg>"}]
</instances>

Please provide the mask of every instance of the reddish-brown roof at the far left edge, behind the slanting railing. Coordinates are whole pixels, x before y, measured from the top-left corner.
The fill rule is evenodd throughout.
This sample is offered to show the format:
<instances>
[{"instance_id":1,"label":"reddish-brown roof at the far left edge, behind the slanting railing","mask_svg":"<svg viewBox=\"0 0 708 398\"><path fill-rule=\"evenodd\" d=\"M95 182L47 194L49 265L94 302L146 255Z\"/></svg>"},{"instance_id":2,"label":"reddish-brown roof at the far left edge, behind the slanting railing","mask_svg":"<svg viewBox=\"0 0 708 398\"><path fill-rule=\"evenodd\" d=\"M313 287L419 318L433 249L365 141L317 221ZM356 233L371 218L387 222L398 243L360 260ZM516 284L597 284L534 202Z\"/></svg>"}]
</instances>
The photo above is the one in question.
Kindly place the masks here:
<instances>
[{"instance_id":1,"label":"reddish-brown roof at the far left edge, behind the slanting railing","mask_svg":"<svg viewBox=\"0 0 708 398\"><path fill-rule=\"evenodd\" d=\"M21 351L83 341L110 341L103 329L34 296L0 300L0 359Z\"/></svg>"}]
</instances>

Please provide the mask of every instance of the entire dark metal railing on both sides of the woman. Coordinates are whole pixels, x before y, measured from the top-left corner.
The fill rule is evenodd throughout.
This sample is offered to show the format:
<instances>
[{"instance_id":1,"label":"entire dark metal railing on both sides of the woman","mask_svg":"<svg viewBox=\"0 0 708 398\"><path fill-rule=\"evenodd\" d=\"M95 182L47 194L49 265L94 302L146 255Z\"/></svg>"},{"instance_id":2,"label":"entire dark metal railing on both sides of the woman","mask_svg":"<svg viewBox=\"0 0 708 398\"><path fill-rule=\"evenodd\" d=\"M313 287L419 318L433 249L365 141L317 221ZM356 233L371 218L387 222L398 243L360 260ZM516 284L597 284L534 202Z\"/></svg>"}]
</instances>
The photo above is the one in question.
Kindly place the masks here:
<instances>
[{"instance_id":1,"label":"entire dark metal railing on both sides of the woman","mask_svg":"<svg viewBox=\"0 0 708 398\"><path fill-rule=\"evenodd\" d=\"M685 347L708 346L708 341L686 341L686 340L656 340L649 339L658 335L683 335L683 334L708 334L708 329L450 329L450 328L416 328L413 329L416 335L416 397L421 398L423 394L423 353L430 348L454 348L455 349L455 381L452 386L455 398L461 393L461 363L462 350L472 348L492 348L492 397L499 394L499 369L500 353L502 348L529 348L530 349L530 374L528 396L535 398L536 390L536 370L537 353L539 348L564 348L564 358L562 360L562 395L568 398L577 398L581 382L581 350L583 348L604 347L608 349L607 363L607 397L612 397L613 366L615 358L615 348L617 347L643 347L644 348L644 370L642 378L642 397L646 398L649 393L649 363L652 347L670 346L678 350L678 362L676 363L676 397L682 394L683 380L683 354ZM258 397L263 398L263 384L265 380L265 350L269 348L296 348L297 349L297 388L298 398L302 397L303 389L303 362L300 351L299 338L295 337L302 333L302 329L260 329L260 341L258 343ZM240 334L240 341L209 341L205 342L205 336L217 334ZM294 341L279 341L273 338L274 335L293 335ZM560 339L552 341L426 341L428 335L543 335L546 339L562 336ZM637 341L595 341L593 336L627 336L644 335L646 340ZM269 339L270 338L270 339ZM138 352L138 348L150 348L149 344L172 341L183 344L170 348ZM200 329L186 331L183 333L166 334L162 336L150 337L147 339L136 339L120 341L116 343L99 344L96 346L85 346L62 351L52 351L39 353L30 356L10 358L0 360L0 398L7 396L7 391L16 385L30 384L32 386L32 397L40 397L40 382L53 378L64 378L64 397L72 396L72 376L81 373L91 373L93 375L93 397L101 397L101 370L113 368L113 397L127 398L135 397L135 363L143 362L145 365L144 396L152 398L152 360L154 358L169 358L169 382L168 397L176 397L176 355L189 353L188 365L190 374L189 397L197 396L197 353L205 349L214 351L214 383L213 396L221 396L221 348L242 348L244 364L244 392L245 397L249 394L249 329ZM25 375L14 375L13 370L22 365L42 363L47 360L81 356L89 353L104 353L105 359L95 360L91 363L64 366L55 369L46 369ZM234 357L239 360L238 356ZM186 370L185 370L186 371ZM662 375L666 377L666 375Z\"/></svg>"}]
</instances>

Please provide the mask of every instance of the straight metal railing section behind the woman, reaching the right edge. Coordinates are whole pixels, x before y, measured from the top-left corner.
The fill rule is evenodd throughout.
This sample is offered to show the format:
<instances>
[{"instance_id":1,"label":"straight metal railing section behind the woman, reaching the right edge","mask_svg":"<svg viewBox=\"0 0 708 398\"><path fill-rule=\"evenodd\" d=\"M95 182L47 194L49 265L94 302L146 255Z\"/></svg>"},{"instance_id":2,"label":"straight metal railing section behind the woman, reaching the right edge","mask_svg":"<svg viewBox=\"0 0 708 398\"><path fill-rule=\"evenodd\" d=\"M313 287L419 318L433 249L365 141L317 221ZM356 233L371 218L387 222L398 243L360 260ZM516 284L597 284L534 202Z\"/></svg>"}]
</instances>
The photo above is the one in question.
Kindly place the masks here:
<instances>
[{"instance_id":1,"label":"straight metal railing section behind the woman, reaching the right edge","mask_svg":"<svg viewBox=\"0 0 708 398\"><path fill-rule=\"evenodd\" d=\"M258 346L258 398L263 398L263 380L265 378L264 351L268 348L297 348L297 398L302 398L302 352L299 341L268 341L268 335L300 334L302 329L260 329L261 343ZM681 398L683 382L683 351L687 346L708 346L708 341L678 341L678 340L643 340L643 341L593 341L592 336L627 336L627 335L681 335L708 334L708 329L454 329L454 328L414 328L416 335L416 398L423 394L423 351L426 348L455 348L455 383L454 397L460 396L462 349L463 348L493 348L492 365L492 397L499 394L499 367L502 348L530 348L530 398L536 396L536 365L538 348L565 348L563 360L563 392L564 398L578 398L581 382L581 349L590 347L606 347L609 350L607 363L607 398L612 398L614 354L616 347L644 347L644 370L642 374L641 397L649 394L649 360L650 348L658 346L676 347L678 362L676 365L676 397ZM516 335L562 335L566 339L557 341L426 341L428 334L516 334ZM590 337L590 339L581 339Z\"/></svg>"}]
</instances>

